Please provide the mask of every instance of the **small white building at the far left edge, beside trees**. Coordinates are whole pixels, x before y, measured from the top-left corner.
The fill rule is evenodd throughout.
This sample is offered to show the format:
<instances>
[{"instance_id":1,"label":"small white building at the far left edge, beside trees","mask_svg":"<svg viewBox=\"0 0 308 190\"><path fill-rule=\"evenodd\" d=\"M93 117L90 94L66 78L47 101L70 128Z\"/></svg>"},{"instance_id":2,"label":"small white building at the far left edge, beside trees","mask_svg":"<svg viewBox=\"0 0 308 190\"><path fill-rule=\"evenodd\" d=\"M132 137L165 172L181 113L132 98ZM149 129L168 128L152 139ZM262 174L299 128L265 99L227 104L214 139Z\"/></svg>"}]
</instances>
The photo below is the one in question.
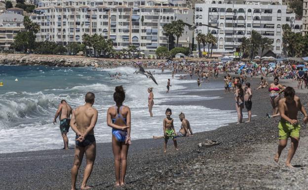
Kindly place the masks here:
<instances>
[{"instance_id":1,"label":"small white building at the far left edge, beside trees","mask_svg":"<svg viewBox=\"0 0 308 190\"><path fill-rule=\"evenodd\" d=\"M9 49L16 35L25 29L24 16L14 11L18 11L18 8L0 14L0 49Z\"/></svg>"}]
</instances>

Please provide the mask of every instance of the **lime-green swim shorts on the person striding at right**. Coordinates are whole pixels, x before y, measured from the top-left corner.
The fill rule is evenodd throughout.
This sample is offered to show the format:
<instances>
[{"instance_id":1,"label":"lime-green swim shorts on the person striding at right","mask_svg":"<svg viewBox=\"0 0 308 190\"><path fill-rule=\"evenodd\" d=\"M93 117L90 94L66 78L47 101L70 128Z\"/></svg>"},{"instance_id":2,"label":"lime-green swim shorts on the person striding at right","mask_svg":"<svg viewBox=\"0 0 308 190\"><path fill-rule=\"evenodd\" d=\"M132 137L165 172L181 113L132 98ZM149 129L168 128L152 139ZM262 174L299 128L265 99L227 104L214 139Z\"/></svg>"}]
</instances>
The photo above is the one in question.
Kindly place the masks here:
<instances>
[{"instance_id":1,"label":"lime-green swim shorts on the person striding at right","mask_svg":"<svg viewBox=\"0 0 308 190\"><path fill-rule=\"evenodd\" d=\"M292 125L289 122L279 121L278 124L279 129L279 140L288 139L289 137L300 138L300 124Z\"/></svg>"}]
</instances>

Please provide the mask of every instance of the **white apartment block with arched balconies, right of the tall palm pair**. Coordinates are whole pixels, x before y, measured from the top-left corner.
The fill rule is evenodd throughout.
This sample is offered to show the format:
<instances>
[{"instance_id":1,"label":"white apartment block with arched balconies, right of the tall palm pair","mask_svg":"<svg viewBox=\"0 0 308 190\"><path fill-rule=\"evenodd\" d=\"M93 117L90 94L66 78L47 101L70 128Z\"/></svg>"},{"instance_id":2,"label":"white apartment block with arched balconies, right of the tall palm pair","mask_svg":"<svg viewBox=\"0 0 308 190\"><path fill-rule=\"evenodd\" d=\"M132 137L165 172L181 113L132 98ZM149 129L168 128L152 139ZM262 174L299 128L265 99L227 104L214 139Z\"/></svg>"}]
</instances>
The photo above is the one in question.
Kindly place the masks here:
<instances>
[{"instance_id":1,"label":"white apartment block with arched balconies, right of the tall palm pair","mask_svg":"<svg viewBox=\"0 0 308 190\"><path fill-rule=\"evenodd\" d=\"M213 52L231 54L241 44L241 38L249 38L251 31L273 40L273 52L279 57L282 53L282 28L289 24L293 32L301 32L302 20L289 12L281 0L210 0L195 4L195 23L210 24L221 30L206 26L198 27L197 33L212 33L217 38Z\"/></svg>"}]
</instances>

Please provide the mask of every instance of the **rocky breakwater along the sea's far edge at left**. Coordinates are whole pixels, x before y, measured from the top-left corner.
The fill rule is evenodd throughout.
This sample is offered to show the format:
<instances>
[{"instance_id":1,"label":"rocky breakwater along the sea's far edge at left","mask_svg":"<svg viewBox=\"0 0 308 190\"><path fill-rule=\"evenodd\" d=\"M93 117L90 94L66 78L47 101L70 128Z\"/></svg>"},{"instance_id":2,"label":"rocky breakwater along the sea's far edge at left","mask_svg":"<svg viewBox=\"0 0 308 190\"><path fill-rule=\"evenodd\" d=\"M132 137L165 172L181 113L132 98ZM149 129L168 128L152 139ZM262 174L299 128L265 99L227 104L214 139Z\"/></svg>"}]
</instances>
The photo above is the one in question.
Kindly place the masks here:
<instances>
[{"instance_id":1,"label":"rocky breakwater along the sea's far edge at left","mask_svg":"<svg viewBox=\"0 0 308 190\"><path fill-rule=\"evenodd\" d=\"M107 60L81 56L0 54L0 65L43 65L50 67L110 67L133 65L129 60Z\"/></svg>"}]
</instances>

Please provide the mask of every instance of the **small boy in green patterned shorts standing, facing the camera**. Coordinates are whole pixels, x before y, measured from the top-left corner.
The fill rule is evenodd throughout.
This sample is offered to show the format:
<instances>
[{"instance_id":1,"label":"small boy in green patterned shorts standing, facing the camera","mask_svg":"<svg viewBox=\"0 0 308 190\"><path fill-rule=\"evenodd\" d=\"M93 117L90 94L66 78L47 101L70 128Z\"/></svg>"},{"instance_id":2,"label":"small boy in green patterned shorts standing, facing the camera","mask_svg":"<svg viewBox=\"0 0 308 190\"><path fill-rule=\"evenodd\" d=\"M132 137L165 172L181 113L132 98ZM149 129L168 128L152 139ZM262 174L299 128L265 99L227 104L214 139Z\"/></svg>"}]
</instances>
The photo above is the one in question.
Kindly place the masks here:
<instances>
[{"instance_id":1,"label":"small boy in green patterned shorts standing, facing the camera","mask_svg":"<svg viewBox=\"0 0 308 190\"><path fill-rule=\"evenodd\" d=\"M172 139L174 143L175 150L178 149L177 141L176 141L176 132L173 126L173 118L171 118L172 111L170 108L166 110L166 118L163 119L163 130L164 130L164 153L167 150L168 139Z\"/></svg>"}]
</instances>

